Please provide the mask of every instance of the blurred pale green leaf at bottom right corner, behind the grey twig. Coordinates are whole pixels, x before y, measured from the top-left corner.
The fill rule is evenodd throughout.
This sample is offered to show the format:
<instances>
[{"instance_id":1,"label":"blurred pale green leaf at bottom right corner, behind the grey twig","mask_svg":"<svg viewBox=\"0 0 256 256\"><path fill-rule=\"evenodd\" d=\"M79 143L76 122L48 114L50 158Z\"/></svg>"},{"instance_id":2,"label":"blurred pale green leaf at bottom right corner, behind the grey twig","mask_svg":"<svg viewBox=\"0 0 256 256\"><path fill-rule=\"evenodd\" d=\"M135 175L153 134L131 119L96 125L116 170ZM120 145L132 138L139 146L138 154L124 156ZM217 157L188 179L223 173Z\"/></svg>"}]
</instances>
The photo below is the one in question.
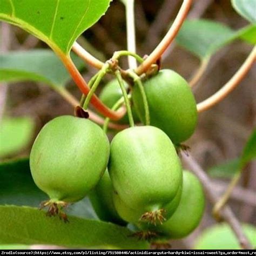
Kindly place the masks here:
<instances>
[{"instance_id":1,"label":"blurred pale green leaf at bottom right corner, behind the grey twig","mask_svg":"<svg viewBox=\"0 0 256 256\"><path fill-rule=\"evenodd\" d=\"M256 246L256 228L253 225L243 224L242 229ZM200 234L194 246L196 250L239 250L238 239L235 237L230 226L227 224L217 224L206 228Z\"/></svg>"}]
</instances>

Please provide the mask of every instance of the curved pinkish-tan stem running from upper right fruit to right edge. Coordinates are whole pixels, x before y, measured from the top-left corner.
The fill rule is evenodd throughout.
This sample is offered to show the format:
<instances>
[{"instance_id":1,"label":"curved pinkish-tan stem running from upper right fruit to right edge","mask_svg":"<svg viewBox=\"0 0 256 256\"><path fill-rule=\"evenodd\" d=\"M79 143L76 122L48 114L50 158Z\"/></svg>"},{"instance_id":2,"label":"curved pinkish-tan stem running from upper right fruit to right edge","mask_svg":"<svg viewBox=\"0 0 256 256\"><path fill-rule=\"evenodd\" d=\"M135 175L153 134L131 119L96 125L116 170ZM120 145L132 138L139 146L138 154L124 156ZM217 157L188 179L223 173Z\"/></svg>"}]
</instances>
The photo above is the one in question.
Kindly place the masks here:
<instances>
[{"instance_id":1,"label":"curved pinkish-tan stem running from upper right fruit to right edge","mask_svg":"<svg viewBox=\"0 0 256 256\"><path fill-rule=\"evenodd\" d=\"M197 104L197 111L203 112L210 109L215 104L221 102L225 97L232 92L235 87L241 82L241 80L246 76L248 71L251 69L253 63L256 59L256 46L252 49L250 55L245 60L244 64L241 65L240 69L235 73L235 75L214 95L205 99L203 102Z\"/></svg>"}]
</instances>

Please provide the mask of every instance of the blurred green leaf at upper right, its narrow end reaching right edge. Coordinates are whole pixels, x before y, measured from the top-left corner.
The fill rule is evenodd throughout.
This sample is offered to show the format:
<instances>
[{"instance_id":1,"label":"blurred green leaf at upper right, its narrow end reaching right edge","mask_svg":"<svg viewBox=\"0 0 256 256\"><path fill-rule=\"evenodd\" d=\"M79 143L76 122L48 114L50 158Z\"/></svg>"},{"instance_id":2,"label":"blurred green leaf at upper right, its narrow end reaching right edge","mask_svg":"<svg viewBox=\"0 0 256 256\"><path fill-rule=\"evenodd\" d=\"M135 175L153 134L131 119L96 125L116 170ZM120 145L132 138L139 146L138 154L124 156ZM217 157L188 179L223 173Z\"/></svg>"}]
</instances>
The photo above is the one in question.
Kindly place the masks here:
<instances>
[{"instance_id":1,"label":"blurred green leaf at upper right, its narrow end reaching right edge","mask_svg":"<svg viewBox=\"0 0 256 256\"><path fill-rule=\"evenodd\" d=\"M252 44L256 43L255 33L254 25L234 31L219 22L194 19L184 22L176 37L176 42L194 55L204 59L237 38Z\"/></svg>"}]
</instances>

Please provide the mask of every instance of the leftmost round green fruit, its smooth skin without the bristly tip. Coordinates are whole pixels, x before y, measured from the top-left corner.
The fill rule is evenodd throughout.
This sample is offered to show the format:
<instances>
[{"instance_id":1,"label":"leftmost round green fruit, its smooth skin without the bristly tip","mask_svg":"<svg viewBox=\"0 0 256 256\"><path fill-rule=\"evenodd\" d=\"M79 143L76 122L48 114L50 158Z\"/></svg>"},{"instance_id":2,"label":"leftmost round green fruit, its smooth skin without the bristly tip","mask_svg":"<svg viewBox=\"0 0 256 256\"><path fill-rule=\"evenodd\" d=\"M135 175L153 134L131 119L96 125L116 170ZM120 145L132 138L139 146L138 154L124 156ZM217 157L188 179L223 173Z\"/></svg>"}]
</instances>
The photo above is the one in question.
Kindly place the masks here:
<instances>
[{"instance_id":1,"label":"leftmost round green fruit, its smooth skin without the bristly tip","mask_svg":"<svg viewBox=\"0 0 256 256\"><path fill-rule=\"evenodd\" d=\"M109 140L97 124L57 117L43 127L32 146L32 177L53 201L78 201L102 177L109 153Z\"/></svg>"}]
</instances>

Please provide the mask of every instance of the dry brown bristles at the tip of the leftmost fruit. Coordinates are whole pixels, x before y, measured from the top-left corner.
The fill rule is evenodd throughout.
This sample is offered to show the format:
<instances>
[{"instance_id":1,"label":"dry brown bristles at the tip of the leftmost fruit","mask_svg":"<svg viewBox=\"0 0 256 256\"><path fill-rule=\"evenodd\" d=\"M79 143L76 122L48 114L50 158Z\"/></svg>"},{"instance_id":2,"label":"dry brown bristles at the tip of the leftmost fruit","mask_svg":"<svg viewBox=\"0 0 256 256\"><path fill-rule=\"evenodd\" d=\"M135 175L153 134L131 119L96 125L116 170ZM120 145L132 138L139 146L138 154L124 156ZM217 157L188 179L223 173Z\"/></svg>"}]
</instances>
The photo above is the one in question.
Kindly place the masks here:
<instances>
[{"instance_id":1,"label":"dry brown bristles at the tip of the leftmost fruit","mask_svg":"<svg viewBox=\"0 0 256 256\"><path fill-rule=\"evenodd\" d=\"M48 211L46 212L46 216L59 216L60 219L64 220L64 222L69 222L68 216L62 211L63 208L67 207L68 203L64 201L53 202L51 200L43 201L40 204L39 210L42 210L44 207L48 207Z\"/></svg>"}]
</instances>

